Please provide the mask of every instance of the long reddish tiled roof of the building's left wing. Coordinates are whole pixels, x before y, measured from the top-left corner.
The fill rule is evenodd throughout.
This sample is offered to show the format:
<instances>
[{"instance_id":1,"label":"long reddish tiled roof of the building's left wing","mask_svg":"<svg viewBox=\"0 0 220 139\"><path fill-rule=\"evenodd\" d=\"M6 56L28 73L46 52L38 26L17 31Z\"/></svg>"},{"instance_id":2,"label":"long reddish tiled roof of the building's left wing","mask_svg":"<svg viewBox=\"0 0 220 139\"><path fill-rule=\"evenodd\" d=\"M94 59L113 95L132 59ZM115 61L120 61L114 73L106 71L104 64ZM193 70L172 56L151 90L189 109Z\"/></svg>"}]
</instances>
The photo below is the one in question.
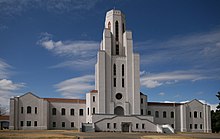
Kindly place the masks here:
<instances>
[{"instance_id":1,"label":"long reddish tiled roof of the building's left wing","mask_svg":"<svg viewBox=\"0 0 220 139\"><path fill-rule=\"evenodd\" d=\"M85 99L66 99L66 98L43 98L44 100L47 100L48 102L63 102L63 103L80 103L85 104Z\"/></svg>"}]
</instances>

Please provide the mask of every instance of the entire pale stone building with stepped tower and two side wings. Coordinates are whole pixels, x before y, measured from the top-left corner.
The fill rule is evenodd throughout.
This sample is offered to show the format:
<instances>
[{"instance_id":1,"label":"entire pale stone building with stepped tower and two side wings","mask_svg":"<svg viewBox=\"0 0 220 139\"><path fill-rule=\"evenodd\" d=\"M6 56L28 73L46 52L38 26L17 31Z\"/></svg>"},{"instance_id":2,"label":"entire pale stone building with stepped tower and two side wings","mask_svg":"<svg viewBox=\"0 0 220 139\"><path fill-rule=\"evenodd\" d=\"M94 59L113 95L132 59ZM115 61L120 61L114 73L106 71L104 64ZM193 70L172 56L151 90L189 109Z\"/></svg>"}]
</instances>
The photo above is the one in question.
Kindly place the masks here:
<instances>
[{"instance_id":1,"label":"entire pale stone building with stepped tower and two side wings","mask_svg":"<svg viewBox=\"0 0 220 139\"><path fill-rule=\"evenodd\" d=\"M211 131L210 106L196 99L148 102L140 93L139 61L124 14L107 12L95 65L95 90L86 94L86 100L40 98L32 93L12 98L10 129L85 130L90 126L95 131Z\"/></svg>"}]
</instances>

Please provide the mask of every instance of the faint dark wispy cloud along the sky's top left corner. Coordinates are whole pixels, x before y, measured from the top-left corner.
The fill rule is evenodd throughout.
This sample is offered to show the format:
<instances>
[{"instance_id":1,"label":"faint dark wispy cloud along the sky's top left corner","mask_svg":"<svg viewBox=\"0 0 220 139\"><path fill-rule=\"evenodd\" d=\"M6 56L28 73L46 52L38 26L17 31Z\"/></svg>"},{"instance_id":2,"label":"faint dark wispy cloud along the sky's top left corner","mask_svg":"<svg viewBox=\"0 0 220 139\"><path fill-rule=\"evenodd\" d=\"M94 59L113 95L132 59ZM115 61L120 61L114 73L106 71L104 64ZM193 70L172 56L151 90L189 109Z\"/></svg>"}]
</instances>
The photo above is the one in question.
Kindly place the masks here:
<instances>
[{"instance_id":1,"label":"faint dark wispy cloud along the sky's top left corner","mask_svg":"<svg viewBox=\"0 0 220 139\"><path fill-rule=\"evenodd\" d=\"M0 0L0 17L13 17L37 8L58 14L76 13L78 10L92 9L97 2L97 0Z\"/></svg>"}]
</instances>

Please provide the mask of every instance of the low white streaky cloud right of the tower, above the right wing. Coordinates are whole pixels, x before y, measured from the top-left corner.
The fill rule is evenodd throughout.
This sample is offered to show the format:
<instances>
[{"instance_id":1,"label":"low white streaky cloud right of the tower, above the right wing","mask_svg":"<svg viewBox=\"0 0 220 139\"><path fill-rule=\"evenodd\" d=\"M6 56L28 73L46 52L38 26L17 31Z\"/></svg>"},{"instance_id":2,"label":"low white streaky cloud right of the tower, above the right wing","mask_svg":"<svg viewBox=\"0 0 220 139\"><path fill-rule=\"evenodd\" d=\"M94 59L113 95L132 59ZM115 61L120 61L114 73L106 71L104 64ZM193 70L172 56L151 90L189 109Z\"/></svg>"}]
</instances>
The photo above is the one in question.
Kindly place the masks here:
<instances>
[{"instance_id":1,"label":"low white streaky cloud right of the tower, above the right wing","mask_svg":"<svg viewBox=\"0 0 220 139\"><path fill-rule=\"evenodd\" d=\"M197 81L212 78L216 78L216 76L209 76L209 74L203 70L185 70L154 74L147 73L141 76L140 81L142 86L145 86L147 88L155 88L161 85L175 84L183 80Z\"/></svg>"}]
</instances>

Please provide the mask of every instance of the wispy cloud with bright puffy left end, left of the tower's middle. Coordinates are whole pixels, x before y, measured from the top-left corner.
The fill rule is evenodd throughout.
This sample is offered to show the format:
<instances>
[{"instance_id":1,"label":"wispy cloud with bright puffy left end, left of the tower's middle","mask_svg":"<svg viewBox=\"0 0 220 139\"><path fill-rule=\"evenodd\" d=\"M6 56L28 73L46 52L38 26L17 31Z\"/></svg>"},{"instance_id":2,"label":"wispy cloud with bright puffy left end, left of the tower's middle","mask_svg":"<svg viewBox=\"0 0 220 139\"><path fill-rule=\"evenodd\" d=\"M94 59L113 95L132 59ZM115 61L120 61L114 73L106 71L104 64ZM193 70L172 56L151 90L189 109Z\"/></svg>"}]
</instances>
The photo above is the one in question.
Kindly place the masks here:
<instances>
[{"instance_id":1,"label":"wispy cloud with bright puffy left end, left of the tower's middle","mask_svg":"<svg viewBox=\"0 0 220 139\"><path fill-rule=\"evenodd\" d=\"M51 68L72 67L72 68L88 68L89 64L95 64L96 53L99 49L99 43L96 41L54 41L53 35L42 33L38 45L47 49L55 55L65 57L66 60ZM86 67L87 65L87 67Z\"/></svg>"}]
</instances>

